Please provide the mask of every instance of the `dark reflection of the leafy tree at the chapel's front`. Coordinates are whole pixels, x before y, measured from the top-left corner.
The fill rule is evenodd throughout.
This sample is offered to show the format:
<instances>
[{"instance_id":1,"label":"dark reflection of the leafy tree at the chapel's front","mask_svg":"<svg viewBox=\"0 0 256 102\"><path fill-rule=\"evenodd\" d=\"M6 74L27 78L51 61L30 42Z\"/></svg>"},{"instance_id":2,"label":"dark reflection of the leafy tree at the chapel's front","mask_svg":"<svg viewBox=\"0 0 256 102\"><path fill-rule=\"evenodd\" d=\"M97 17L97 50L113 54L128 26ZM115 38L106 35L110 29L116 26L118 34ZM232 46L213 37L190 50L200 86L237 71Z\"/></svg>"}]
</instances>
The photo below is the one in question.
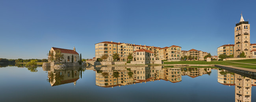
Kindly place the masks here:
<instances>
[{"instance_id":1,"label":"dark reflection of the leafy tree at the chapel's front","mask_svg":"<svg viewBox=\"0 0 256 102\"><path fill-rule=\"evenodd\" d=\"M55 79L55 83L56 85L60 85L61 84L61 80L64 79L64 75L60 75L59 72L57 73L48 73L50 74L48 77L50 77L47 81L50 82L50 83L53 83L54 79Z\"/></svg>"}]
</instances>

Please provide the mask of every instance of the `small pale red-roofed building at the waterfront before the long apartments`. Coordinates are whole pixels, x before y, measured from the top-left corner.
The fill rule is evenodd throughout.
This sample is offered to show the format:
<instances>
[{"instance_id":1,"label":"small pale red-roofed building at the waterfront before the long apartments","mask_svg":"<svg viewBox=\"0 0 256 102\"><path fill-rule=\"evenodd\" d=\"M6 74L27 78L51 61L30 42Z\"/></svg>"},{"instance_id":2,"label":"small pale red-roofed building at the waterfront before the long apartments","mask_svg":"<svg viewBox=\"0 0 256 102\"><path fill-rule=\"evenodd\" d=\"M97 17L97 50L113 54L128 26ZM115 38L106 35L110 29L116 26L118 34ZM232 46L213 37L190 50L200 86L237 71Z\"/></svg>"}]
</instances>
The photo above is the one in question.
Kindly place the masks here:
<instances>
[{"instance_id":1,"label":"small pale red-roofed building at the waterfront before the long apartments","mask_svg":"<svg viewBox=\"0 0 256 102\"><path fill-rule=\"evenodd\" d=\"M146 49L140 49L133 52L133 61L137 61L141 64L150 64L150 61L154 61L154 52Z\"/></svg>"}]
</instances>

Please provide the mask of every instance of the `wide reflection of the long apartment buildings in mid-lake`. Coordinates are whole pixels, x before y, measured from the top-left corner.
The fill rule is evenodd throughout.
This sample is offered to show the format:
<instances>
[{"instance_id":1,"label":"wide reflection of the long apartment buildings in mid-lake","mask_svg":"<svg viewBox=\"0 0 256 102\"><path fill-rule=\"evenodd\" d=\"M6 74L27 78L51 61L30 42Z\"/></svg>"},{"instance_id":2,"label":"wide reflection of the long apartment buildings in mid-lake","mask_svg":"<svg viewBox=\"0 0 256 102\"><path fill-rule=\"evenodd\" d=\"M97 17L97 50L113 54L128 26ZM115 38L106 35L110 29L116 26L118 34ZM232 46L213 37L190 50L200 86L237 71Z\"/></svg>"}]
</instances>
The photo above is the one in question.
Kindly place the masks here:
<instances>
[{"instance_id":1,"label":"wide reflection of the long apartment buildings in mid-lake","mask_svg":"<svg viewBox=\"0 0 256 102\"><path fill-rule=\"evenodd\" d=\"M91 70L95 70L95 84L105 88L156 80L175 83L182 81L182 75L195 78L211 73L211 68L163 68L162 66L101 67Z\"/></svg>"}]
</instances>

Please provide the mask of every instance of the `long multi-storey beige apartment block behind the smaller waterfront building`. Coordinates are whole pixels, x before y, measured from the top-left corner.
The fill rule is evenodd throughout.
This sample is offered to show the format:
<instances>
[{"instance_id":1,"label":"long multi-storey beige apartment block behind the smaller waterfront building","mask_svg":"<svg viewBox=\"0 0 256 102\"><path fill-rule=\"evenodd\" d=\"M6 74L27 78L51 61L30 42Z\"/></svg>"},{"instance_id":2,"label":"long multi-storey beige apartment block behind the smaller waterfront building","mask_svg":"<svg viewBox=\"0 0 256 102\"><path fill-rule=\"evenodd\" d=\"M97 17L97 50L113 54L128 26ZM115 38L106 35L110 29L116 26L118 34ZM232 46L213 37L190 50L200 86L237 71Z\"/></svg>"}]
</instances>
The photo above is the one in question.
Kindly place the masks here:
<instances>
[{"instance_id":1,"label":"long multi-storey beige apartment block behind the smaller waterfront building","mask_svg":"<svg viewBox=\"0 0 256 102\"><path fill-rule=\"evenodd\" d=\"M113 61L111 55L119 54L118 61L128 61L129 53L133 53L136 50L146 49L153 52L154 59L180 59L181 57L181 47L171 46L171 47L154 47L154 46L146 46L146 45L135 45L130 43L116 43L104 41L95 44L95 59L101 58L102 55L108 55L108 59L105 61ZM161 49L161 54L160 54ZM161 55L161 56L160 56Z\"/></svg>"}]
</instances>

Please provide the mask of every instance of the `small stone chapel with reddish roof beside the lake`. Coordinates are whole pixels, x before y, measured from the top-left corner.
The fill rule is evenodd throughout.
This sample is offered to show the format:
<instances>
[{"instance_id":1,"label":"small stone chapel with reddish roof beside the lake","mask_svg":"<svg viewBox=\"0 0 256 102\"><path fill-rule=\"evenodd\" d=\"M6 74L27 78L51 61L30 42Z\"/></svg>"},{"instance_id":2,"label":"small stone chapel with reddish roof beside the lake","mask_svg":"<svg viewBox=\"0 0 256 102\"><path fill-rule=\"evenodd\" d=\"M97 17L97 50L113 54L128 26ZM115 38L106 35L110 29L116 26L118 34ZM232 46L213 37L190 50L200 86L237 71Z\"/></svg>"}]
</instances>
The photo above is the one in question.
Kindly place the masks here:
<instances>
[{"instance_id":1,"label":"small stone chapel with reddish roof beside the lake","mask_svg":"<svg viewBox=\"0 0 256 102\"><path fill-rule=\"evenodd\" d=\"M63 54L63 59L60 60L60 63L72 63L72 55L73 55L73 62L79 61L79 54L76 52L76 48L74 47L73 50L63 49L63 48L56 48L52 47L50 53L48 55L48 62L51 61L51 58L54 57L56 54L56 50L60 50L61 54Z\"/></svg>"}]
</instances>

